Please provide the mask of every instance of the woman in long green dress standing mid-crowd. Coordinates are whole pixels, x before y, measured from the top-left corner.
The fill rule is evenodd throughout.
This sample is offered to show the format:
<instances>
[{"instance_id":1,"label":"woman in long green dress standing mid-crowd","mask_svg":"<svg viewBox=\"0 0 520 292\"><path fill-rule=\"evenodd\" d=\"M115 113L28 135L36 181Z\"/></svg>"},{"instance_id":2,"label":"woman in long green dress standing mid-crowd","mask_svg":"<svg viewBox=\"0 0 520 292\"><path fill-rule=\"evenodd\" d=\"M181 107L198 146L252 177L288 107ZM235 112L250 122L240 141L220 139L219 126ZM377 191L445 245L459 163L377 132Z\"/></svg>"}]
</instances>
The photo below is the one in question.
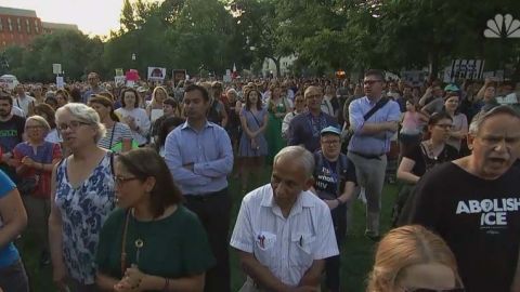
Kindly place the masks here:
<instances>
[{"instance_id":1,"label":"woman in long green dress standing mid-crowd","mask_svg":"<svg viewBox=\"0 0 520 292\"><path fill-rule=\"evenodd\" d=\"M272 164L274 156L285 147L285 141L282 137L282 122L287 112L291 111L289 102L286 98L287 93L282 93L280 84L271 85L271 96L268 101L269 121L265 131L268 141L268 163Z\"/></svg>"}]
</instances>

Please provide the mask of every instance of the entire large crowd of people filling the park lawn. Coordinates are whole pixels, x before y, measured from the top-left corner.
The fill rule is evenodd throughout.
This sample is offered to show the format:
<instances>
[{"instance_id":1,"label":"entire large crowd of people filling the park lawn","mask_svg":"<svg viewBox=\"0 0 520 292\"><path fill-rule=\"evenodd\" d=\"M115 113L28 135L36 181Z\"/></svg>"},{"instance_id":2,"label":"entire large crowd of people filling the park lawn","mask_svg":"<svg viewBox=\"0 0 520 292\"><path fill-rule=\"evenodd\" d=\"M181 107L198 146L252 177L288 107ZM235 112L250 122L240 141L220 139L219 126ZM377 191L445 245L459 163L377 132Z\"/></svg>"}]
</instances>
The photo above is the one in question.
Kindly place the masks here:
<instances>
[{"instance_id":1,"label":"entire large crowd of people filling the park lawn","mask_svg":"<svg viewBox=\"0 0 520 292\"><path fill-rule=\"evenodd\" d=\"M515 85L370 69L359 81L132 87L90 72L63 89L1 89L0 291L39 291L21 235L61 292L227 292L230 251L242 292L344 291L358 198L364 236L379 242L368 292L520 291ZM384 235L381 221L394 229Z\"/></svg>"}]
</instances>

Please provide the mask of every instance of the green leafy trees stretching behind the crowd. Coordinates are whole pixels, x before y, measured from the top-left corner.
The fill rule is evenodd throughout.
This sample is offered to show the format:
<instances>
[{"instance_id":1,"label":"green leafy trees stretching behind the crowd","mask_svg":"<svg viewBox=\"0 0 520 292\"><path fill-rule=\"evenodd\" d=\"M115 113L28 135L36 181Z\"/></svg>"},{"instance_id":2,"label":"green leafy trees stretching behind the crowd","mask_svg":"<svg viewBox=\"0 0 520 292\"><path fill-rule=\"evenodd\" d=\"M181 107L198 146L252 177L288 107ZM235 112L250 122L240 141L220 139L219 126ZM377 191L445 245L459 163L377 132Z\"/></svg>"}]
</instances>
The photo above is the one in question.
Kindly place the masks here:
<instances>
[{"instance_id":1,"label":"green leafy trees stretching behind the crowd","mask_svg":"<svg viewBox=\"0 0 520 292\"><path fill-rule=\"evenodd\" d=\"M36 38L3 52L21 80L52 80L52 63L79 79L90 70L112 78L115 68L183 68L222 75L278 65L295 54L294 69L322 75L368 67L400 71L453 58L483 58L486 70L512 64L520 75L520 39L486 39L496 13L519 18L520 1L497 0L125 0L121 28L102 42L77 32ZM132 61L132 55L135 61Z\"/></svg>"}]
</instances>

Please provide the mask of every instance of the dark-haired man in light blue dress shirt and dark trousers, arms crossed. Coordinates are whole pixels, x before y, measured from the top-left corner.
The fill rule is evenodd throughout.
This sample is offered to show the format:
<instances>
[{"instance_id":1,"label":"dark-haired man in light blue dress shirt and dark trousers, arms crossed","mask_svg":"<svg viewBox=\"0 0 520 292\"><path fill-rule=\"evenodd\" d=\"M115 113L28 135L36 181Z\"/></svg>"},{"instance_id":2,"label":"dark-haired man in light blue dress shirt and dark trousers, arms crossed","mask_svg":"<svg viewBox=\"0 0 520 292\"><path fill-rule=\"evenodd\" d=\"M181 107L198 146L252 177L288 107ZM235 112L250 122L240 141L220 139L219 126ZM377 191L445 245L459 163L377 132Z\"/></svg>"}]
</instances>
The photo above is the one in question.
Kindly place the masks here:
<instances>
[{"instance_id":1,"label":"dark-haired man in light blue dress shirt and dark trousers, arms crossed","mask_svg":"<svg viewBox=\"0 0 520 292\"><path fill-rule=\"evenodd\" d=\"M183 103L186 122L166 138L165 159L185 205L206 228L217 258L217 265L206 274L205 291L229 292L231 198L226 176L233 170L231 140L224 129L207 120L210 99L205 88L188 85Z\"/></svg>"}]
</instances>

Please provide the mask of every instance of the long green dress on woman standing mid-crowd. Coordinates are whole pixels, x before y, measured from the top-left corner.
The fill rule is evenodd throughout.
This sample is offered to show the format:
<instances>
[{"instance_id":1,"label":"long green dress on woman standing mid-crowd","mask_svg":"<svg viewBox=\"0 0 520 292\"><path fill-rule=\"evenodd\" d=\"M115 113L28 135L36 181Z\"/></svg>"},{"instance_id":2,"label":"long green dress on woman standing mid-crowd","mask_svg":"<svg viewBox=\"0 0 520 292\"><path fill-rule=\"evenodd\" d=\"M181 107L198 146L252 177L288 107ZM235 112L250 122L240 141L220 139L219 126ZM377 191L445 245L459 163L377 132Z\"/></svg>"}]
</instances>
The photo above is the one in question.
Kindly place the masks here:
<instances>
[{"instance_id":1,"label":"long green dress on woman standing mid-crowd","mask_svg":"<svg viewBox=\"0 0 520 292\"><path fill-rule=\"evenodd\" d=\"M269 164L273 163L273 159L276 154L286 146L285 140L282 137L282 122L284 117L275 117L274 114L286 112L286 101L280 98L274 110L273 107L269 106L269 122L268 128L265 129L265 140L268 141L268 157L266 162Z\"/></svg>"}]
</instances>

